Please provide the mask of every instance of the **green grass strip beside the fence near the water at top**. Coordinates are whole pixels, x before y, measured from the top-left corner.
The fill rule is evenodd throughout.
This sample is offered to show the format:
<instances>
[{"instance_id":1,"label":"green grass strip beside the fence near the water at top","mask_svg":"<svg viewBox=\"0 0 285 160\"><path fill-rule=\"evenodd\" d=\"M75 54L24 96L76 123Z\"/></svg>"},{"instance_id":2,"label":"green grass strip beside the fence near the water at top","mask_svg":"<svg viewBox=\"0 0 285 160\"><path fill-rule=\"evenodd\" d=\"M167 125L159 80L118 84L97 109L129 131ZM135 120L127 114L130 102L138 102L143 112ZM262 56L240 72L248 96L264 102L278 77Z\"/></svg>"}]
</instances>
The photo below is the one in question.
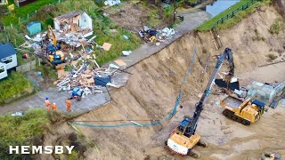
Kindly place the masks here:
<instances>
[{"instance_id":1,"label":"green grass strip beside the fence near the water at top","mask_svg":"<svg viewBox=\"0 0 285 160\"><path fill-rule=\"evenodd\" d=\"M221 12L220 14L216 15L211 20L208 20L208 21L204 22L203 24L201 24L199 26L198 30L199 31L208 31L208 30L210 30L211 28L213 28L216 25L216 21L217 20L220 20L221 18L223 18L227 14L237 10L240 6L242 6L243 4L247 4L248 2L250 2L250 0L240 0L239 3L232 5L232 7L230 7L229 9L227 9L224 12ZM238 21L238 20L240 20L240 18L232 20L231 23L234 23L235 21Z\"/></svg>"}]
</instances>

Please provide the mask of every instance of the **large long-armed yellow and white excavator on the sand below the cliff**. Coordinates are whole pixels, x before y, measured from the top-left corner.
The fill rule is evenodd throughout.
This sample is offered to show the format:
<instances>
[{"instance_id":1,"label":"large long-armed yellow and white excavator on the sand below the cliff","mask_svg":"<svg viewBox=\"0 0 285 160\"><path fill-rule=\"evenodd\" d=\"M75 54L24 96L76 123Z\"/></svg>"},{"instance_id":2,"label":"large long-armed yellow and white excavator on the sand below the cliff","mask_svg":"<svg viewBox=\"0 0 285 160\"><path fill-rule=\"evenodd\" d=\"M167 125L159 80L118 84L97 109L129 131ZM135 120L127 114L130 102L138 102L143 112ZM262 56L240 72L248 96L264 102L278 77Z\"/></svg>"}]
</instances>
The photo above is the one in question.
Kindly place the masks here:
<instances>
[{"instance_id":1,"label":"large long-armed yellow and white excavator on the sand below the cliff","mask_svg":"<svg viewBox=\"0 0 285 160\"><path fill-rule=\"evenodd\" d=\"M230 68L228 75L225 76L225 82L228 85L231 82L232 76L234 74L232 50L230 48L226 48L224 50L224 53L219 57L216 62L216 67L212 75L210 76L206 90L203 92L203 95L199 102L195 105L194 115L192 117L184 116L183 121L175 128L175 130L171 132L169 139L166 141L167 147L170 148L173 152L182 156L188 155L198 158L199 152L194 150L193 148L196 145L201 146L203 148L207 147L207 144L200 140L199 134L196 133L196 128L199 116L203 110L205 102L215 82L216 74L222 67L224 60L229 61Z\"/></svg>"}]
</instances>

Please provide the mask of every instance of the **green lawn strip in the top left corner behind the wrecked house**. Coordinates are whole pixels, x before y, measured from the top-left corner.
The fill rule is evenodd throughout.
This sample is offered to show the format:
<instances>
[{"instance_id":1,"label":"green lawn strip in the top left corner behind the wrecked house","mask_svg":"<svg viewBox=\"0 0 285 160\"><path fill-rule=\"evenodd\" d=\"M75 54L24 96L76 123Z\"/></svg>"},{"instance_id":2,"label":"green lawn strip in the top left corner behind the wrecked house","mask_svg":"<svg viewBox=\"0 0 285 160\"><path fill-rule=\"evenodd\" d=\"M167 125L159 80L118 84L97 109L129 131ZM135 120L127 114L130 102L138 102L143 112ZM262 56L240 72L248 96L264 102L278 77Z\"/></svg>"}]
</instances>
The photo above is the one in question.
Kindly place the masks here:
<instances>
[{"instance_id":1,"label":"green lawn strip in the top left corner behind the wrecked house","mask_svg":"<svg viewBox=\"0 0 285 160\"><path fill-rule=\"evenodd\" d=\"M45 4L52 4L57 1L58 0L37 0L34 3L27 4L21 7L15 6L15 10L11 14L4 15L2 20L6 26L10 25L10 23L12 23L14 26L18 26L19 17L21 19L27 19L27 14L34 13L36 10L38 10ZM11 2L9 1L9 3Z\"/></svg>"}]
</instances>

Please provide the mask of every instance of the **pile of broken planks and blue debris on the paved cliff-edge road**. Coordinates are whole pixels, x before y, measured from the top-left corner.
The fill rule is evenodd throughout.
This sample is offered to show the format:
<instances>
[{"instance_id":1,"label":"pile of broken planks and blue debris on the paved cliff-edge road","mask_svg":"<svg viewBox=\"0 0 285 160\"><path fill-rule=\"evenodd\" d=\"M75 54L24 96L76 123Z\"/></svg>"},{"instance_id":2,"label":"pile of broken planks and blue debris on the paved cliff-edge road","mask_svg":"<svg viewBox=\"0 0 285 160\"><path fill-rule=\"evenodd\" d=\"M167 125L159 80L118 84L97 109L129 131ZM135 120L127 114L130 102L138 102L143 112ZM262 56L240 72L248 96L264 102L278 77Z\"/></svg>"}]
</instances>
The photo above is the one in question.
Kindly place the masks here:
<instances>
[{"instance_id":1,"label":"pile of broken planks and blue debris on the paved cliff-edge road","mask_svg":"<svg viewBox=\"0 0 285 160\"><path fill-rule=\"evenodd\" d=\"M81 66L72 66L70 72L59 71L61 79L55 84L58 91L72 91L74 99L81 100L85 95L102 93L102 86L112 86L119 88L126 84L127 74L118 73L118 66L110 64L109 68L93 68L83 62Z\"/></svg>"}]
</instances>

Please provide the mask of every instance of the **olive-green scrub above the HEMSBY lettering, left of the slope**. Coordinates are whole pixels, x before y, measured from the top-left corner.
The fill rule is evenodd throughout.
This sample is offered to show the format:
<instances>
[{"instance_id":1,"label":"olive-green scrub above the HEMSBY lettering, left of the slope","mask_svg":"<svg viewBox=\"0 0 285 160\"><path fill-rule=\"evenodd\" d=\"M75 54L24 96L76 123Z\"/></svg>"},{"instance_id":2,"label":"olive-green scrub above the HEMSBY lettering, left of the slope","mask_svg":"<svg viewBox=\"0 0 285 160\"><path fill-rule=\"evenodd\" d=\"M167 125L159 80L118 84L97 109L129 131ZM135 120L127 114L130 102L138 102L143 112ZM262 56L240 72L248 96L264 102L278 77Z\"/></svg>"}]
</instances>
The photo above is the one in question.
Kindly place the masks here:
<instances>
[{"instance_id":1,"label":"olive-green scrub above the HEMSBY lettering, left of the slope","mask_svg":"<svg viewBox=\"0 0 285 160\"><path fill-rule=\"evenodd\" d=\"M51 123L45 109L30 109L24 116L0 116L0 159L30 159L9 154L9 146L42 145L43 133Z\"/></svg>"}]
</instances>

